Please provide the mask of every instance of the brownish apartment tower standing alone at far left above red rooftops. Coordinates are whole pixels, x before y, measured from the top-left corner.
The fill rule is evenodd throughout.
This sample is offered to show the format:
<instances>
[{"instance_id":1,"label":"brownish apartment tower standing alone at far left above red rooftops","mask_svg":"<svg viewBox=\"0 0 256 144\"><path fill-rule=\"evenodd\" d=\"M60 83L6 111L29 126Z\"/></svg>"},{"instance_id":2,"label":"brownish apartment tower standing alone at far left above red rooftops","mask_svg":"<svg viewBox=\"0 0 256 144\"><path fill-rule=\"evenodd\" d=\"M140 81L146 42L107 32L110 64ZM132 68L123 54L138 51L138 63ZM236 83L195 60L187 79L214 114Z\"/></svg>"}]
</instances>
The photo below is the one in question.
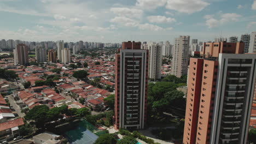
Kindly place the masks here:
<instances>
[{"instance_id":1,"label":"brownish apartment tower standing alone at far left above red rooftops","mask_svg":"<svg viewBox=\"0 0 256 144\"><path fill-rule=\"evenodd\" d=\"M28 47L25 44L18 44L13 50L15 65L28 65Z\"/></svg>"}]
</instances>

